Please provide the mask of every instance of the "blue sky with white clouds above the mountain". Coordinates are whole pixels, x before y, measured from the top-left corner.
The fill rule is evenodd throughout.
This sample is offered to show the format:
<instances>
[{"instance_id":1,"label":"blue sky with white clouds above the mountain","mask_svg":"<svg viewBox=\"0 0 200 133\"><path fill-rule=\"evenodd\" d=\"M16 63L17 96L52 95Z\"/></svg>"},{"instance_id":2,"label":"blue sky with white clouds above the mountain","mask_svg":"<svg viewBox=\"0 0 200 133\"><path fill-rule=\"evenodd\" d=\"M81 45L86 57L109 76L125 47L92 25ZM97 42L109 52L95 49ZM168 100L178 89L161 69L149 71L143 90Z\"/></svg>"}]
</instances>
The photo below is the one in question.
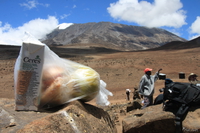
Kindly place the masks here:
<instances>
[{"instance_id":1,"label":"blue sky with white clouds above the mountain","mask_svg":"<svg viewBox=\"0 0 200 133\"><path fill-rule=\"evenodd\" d=\"M0 44L21 45L62 23L113 22L200 36L200 0L0 0Z\"/></svg>"}]
</instances>

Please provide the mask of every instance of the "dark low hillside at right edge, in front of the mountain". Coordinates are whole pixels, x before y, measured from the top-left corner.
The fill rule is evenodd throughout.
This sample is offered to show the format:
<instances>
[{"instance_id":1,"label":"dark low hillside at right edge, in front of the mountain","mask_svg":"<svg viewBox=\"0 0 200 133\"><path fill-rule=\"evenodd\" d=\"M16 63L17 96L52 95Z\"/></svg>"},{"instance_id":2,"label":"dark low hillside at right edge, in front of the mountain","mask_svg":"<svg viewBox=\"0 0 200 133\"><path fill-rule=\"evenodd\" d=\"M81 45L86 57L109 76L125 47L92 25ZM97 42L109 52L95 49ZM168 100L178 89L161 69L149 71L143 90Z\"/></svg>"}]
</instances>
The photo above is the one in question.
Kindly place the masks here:
<instances>
[{"instance_id":1,"label":"dark low hillside at right edge, in front of the mountain","mask_svg":"<svg viewBox=\"0 0 200 133\"><path fill-rule=\"evenodd\" d=\"M155 48L155 50L178 50L178 49L190 49L200 47L200 36L186 42L173 41L167 43L161 47Z\"/></svg>"}]
</instances>

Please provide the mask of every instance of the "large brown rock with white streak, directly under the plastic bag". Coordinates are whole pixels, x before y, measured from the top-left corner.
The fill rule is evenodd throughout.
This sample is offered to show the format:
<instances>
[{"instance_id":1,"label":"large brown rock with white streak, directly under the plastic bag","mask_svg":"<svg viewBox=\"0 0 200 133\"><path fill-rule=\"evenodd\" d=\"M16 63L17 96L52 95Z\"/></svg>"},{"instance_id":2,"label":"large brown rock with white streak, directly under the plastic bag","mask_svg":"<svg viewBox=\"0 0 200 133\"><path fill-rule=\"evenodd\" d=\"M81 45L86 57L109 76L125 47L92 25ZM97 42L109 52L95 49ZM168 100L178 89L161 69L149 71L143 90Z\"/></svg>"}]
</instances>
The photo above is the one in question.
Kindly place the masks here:
<instances>
[{"instance_id":1,"label":"large brown rock with white streak, directly under the plastic bag","mask_svg":"<svg viewBox=\"0 0 200 133\"><path fill-rule=\"evenodd\" d=\"M103 109L80 103L70 103L56 113L35 120L17 133L116 133L117 129Z\"/></svg>"}]
</instances>

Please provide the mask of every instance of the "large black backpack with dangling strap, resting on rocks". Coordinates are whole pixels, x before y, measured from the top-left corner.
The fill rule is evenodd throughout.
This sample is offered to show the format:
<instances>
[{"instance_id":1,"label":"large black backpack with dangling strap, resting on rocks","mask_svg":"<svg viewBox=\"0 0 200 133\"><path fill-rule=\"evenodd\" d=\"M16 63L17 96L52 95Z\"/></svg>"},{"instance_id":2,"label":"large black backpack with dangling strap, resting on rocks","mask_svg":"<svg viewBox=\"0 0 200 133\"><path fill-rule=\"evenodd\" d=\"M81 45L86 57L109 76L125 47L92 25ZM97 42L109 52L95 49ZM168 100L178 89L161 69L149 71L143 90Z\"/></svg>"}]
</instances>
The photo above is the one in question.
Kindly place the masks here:
<instances>
[{"instance_id":1,"label":"large black backpack with dangling strap, resting on rocks","mask_svg":"<svg viewBox=\"0 0 200 133\"><path fill-rule=\"evenodd\" d=\"M182 121L191 106L200 105L200 87L190 83L172 82L165 85L163 110L176 116L176 133L182 133Z\"/></svg>"}]
</instances>

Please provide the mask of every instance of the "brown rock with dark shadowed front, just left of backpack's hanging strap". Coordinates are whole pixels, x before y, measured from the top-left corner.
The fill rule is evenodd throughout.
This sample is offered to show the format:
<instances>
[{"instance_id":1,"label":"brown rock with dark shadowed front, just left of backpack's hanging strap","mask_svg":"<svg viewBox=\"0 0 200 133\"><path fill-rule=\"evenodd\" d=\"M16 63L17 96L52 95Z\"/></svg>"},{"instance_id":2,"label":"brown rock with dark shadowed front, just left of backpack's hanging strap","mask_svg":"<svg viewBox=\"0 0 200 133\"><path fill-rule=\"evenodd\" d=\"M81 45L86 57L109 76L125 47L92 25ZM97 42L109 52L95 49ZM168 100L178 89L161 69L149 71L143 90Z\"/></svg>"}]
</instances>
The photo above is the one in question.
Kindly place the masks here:
<instances>
[{"instance_id":1,"label":"brown rock with dark shadowed front, just left of backpack's hanging strap","mask_svg":"<svg viewBox=\"0 0 200 133\"><path fill-rule=\"evenodd\" d=\"M173 133L174 115L161 105L136 110L122 121L123 133Z\"/></svg>"}]
</instances>

